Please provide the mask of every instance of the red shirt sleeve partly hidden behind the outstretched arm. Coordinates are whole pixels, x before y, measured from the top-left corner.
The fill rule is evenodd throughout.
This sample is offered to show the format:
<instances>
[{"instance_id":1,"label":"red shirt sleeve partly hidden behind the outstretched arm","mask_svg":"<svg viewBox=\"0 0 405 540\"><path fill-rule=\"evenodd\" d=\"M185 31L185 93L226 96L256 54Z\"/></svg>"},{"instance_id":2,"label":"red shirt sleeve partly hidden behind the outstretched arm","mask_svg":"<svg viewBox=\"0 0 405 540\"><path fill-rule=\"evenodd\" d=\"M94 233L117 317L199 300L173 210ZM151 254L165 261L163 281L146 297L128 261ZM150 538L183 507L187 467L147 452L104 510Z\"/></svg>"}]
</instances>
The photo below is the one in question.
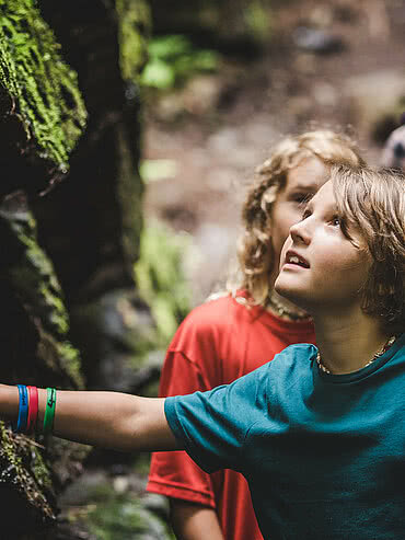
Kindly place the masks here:
<instances>
[{"instance_id":1,"label":"red shirt sleeve partly hidden behind the outstretched arm","mask_svg":"<svg viewBox=\"0 0 405 540\"><path fill-rule=\"evenodd\" d=\"M160 395L187 394L209 388L199 366L178 351L167 352L160 381ZM184 451L154 452L147 490L166 497L216 507L212 482Z\"/></svg>"}]
</instances>

